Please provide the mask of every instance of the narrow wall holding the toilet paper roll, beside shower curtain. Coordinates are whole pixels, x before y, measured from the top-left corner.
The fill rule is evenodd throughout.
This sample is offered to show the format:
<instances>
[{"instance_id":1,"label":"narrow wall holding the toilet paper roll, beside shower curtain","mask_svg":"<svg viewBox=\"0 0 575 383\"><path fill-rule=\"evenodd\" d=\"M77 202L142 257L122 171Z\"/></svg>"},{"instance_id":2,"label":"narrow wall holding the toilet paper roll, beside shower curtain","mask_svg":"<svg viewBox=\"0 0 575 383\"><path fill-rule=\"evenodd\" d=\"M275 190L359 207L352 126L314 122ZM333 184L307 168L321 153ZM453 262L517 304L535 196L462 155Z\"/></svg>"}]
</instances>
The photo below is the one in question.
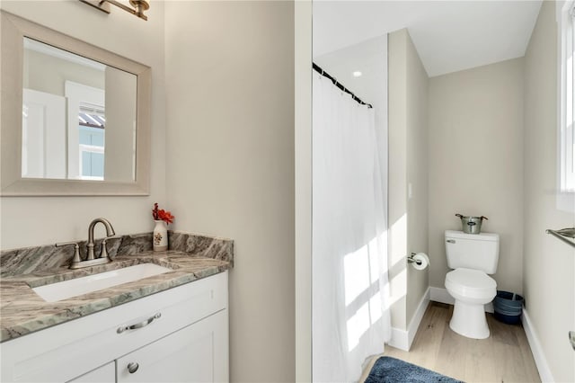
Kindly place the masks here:
<instances>
[{"instance_id":1,"label":"narrow wall holding the toilet paper roll, beside shower curtain","mask_svg":"<svg viewBox=\"0 0 575 383\"><path fill-rule=\"evenodd\" d=\"M392 325L405 330L428 288L428 270L406 261L411 252L428 252L428 76L406 29L390 33L388 47L389 278Z\"/></svg>"}]
</instances>

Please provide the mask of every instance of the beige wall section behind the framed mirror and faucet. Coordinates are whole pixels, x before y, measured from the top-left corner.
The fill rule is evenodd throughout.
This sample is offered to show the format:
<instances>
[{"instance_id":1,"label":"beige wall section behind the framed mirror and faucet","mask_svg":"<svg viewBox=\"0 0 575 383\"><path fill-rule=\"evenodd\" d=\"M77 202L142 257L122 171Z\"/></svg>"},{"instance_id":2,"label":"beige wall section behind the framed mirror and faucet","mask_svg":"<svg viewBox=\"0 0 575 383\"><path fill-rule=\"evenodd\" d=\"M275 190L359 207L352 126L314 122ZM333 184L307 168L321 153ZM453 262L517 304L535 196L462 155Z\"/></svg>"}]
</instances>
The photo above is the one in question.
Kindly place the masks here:
<instances>
[{"instance_id":1,"label":"beige wall section behind the framed mirror and faucet","mask_svg":"<svg viewBox=\"0 0 575 383\"><path fill-rule=\"evenodd\" d=\"M154 202L165 202L164 3L153 4L147 22L113 6L107 15L79 1L4 0L0 7L153 67L150 195L0 198L0 248L86 239L88 224L97 217L110 219L117 234L150 231Z\"/></svg>"}]
</instances>

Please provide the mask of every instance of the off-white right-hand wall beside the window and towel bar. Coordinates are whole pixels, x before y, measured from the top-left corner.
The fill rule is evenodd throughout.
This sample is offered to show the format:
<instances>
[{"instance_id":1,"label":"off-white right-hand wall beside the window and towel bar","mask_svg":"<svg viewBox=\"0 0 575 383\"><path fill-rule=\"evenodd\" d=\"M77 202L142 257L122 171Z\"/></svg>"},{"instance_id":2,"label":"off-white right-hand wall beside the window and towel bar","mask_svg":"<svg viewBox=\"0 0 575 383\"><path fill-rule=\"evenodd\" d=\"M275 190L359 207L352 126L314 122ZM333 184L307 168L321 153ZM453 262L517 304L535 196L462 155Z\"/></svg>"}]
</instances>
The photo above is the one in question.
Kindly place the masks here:
<instances>
[{"instance_id":1,"label":"off-white right-hand wall beside the window and towel bar","mask_svg":"<svg viewBox=\"0 0 575 383\"><path fill-rule=\"evenodd\" d=\"M545 234L575 226L575 213L555 208L557 61L554 2L544 2L525 58L525 200L523 286L526 312L554 381L575 381L575 252ZM572 198L575 198L573 196Z\"/></svg>"}]
</instances>

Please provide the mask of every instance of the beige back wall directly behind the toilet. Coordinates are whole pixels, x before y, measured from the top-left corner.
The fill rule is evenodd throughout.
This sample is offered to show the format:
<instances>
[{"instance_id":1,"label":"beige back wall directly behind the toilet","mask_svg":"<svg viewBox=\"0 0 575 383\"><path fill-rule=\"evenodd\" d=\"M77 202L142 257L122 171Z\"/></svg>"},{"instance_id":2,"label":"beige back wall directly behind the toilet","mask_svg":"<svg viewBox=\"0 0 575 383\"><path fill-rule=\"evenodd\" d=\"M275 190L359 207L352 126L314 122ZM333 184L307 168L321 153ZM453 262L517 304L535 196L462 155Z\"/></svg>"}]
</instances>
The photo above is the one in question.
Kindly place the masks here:
<instances>
[{"instance_id":1,"label":"beige back wall directly behind the toilet","mask_svg":"<svg viewBox=\"0 0 575 383\"><path fill-rule=\"evenodd\" d=\"M431 286L445 287L444 231L461 230L461 213L489 218L498 289L523 291L523 138L523 58L430 78Z\"/></svg>"}]
</instances>

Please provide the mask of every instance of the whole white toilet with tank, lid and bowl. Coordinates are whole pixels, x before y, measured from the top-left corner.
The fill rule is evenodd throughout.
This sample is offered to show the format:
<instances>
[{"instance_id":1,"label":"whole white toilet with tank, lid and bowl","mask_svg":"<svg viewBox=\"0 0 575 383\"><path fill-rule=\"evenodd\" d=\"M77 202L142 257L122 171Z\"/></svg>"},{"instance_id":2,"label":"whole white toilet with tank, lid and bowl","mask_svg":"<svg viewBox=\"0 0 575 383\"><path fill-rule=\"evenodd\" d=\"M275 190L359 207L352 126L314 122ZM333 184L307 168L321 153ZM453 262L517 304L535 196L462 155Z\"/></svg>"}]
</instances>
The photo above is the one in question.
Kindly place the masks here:
<instances>
[{"instance_id":1,"label":"whole white toilet with tank, lid and bowl","mask_svg":"<svg viewBox=\"0 0 575 383\"><path fill-rule=\"evenodd\" d=\"M489 337L483 305L497 295L497 282L488 274L497 271L500 236L493 233L465 234L446 230L447 292L456 299L449 327L473 339Z\"/></svg>"}]
</instances>

